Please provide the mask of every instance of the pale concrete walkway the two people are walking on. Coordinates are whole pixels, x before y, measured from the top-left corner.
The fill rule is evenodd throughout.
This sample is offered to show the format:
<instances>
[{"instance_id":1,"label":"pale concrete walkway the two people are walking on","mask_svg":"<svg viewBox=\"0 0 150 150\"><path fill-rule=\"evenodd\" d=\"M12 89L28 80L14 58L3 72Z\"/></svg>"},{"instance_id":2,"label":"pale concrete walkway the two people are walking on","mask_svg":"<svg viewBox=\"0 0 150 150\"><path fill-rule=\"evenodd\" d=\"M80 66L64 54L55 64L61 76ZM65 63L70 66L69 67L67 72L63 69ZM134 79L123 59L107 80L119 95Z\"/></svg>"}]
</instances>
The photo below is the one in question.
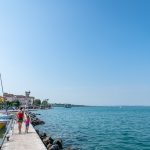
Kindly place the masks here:
<instances>
[{"instance_id":1,"label":"pale concrete walkway the two people are walking on","mask_svg":"<svg viewBox=\"0 0 150 150\"><path fill-rule=\"evenodd\" d=\"M18 124L14 124L14 129L10 140L6 141L2 150L46 150L38 134L30 124L29 133L25 133L25 125L22 124L22 133L18 134Z\"/></svg>"}]
</instances>

